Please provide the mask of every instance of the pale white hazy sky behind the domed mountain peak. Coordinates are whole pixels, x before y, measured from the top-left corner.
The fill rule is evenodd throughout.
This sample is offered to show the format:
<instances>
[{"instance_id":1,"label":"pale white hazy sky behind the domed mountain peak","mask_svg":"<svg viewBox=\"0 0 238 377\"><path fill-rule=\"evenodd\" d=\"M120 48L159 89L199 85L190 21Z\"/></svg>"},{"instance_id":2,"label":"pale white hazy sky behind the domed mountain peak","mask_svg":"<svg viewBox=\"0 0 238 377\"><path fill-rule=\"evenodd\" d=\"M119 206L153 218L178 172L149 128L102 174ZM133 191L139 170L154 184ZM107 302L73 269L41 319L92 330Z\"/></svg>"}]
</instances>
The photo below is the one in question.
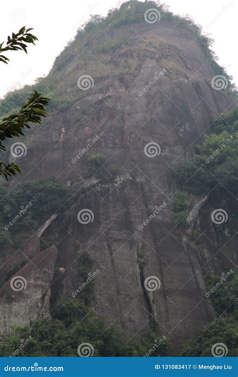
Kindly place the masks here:
<instances>
[{"instance_id":1,"label":"pale white hazy sky behind the domed mountain peak","mask_svg":"<svg viewBox=\"0 0 238 377\"><path fill-rule=\"evenodd\" d=\"M120 3L118 0L41 0L38 4L32 0L5 1L1 6L0 42L24 25L34 27L39 42L29 47L28 55L15 51L6 54L11 62L0 65L0 98L9 90L33 83L36 77L47 74L55 57L90 14L106 15L108 9ZM204 32L211 34L219 64L226 67L233 82L238 84L237 0L164 0L162 3L170 6L173 13L188 14Z\"/></svg>"}]
</instances>

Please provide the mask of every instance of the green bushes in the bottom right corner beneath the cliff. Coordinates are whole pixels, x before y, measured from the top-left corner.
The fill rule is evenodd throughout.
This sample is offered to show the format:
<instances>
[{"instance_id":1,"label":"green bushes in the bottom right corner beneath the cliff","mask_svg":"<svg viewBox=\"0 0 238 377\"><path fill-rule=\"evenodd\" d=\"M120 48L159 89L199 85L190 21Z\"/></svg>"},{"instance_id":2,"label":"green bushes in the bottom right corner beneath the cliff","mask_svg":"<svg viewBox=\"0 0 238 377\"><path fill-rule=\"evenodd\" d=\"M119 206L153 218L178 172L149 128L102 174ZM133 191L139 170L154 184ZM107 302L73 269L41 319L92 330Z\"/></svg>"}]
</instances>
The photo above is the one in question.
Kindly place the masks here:
<instances>
[{"instance_id":1,"label":"green bushes in the bottom right corner beneath the cliff","mask_svg":"<svg viewBox=\"0 0 238 377\"><path fill-rule=\"evenodd\" d=\"M209 292L220 281L219 276L210 276L206 289ZM181 356L212 356L211 347L223 343L228 349L227 356L238 354L238 274L232 275L210 295L217 318L202 330L194 339L184 345Z\"/></svg>"}]
</instances>

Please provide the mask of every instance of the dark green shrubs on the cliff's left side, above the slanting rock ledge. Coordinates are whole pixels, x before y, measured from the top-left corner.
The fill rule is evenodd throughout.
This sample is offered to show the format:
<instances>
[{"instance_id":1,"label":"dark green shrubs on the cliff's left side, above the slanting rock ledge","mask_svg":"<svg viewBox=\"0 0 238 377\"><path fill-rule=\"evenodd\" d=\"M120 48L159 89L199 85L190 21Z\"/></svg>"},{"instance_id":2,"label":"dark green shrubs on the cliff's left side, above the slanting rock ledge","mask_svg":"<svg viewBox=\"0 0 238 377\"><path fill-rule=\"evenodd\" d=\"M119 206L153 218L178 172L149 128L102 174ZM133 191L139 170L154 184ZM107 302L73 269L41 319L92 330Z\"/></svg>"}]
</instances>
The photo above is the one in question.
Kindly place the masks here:
<instances>
[{"instance_id":1,"label":"dark green shrubs on the cliff's left side, above the slanting rock ledge","mask_svg":"<svg viewBox=\"0 0 238 377\"><path fill-rule=\"evenodd\" d=\"M26 181L12 191L0 185L0 245L21 247L51 215L70 203L68 189L54 178Z\"/></svg>"}]
</instances>

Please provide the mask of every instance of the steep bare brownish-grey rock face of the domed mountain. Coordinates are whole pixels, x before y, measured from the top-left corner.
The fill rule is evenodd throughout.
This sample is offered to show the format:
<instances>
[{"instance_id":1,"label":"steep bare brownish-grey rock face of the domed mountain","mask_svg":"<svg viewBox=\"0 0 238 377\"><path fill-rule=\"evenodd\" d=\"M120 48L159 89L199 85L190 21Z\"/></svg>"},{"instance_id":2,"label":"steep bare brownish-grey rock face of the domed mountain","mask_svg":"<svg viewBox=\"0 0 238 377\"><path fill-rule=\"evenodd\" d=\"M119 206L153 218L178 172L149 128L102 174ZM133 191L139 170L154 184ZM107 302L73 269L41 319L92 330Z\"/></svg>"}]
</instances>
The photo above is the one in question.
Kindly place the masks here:
<instances>
[{"instance_id":1,"label":"steep bare brownish-grey rock face of the domed mountain","mask_svg":"<svg viewBox=\"0 0 238 377\"><path fill-rule=\"evenodd\" d=\"M108 40L121 43L105 59L95 48ZM21 179L54 175L70 186L74 200L42 235L54 237L56 265L64 270L59 274L55 268L52 277L50 269L47 282L41 275L39 285L51 286L52 306L71 299L82 285L80 255L87 251L93 262L88 272L100 271L92 292L100 317L143 336L152 315L159 333L174 345L181 343L214 318L204 275L229 266L235 241L222 228L218 244L212 209L203 198L192 198L197 207L189 218L203 235L202 243L175 227L173 173L217 114L231 109L231 100L224 90L211 87L211 59L194 31L179 23L122 26L101 33L87 47L77 40L74 46L68 61L49 75L67 108L53 109L44 126L22 140L27 154L18 160ZM77 84L82 75L94 81L89 78L87 90ZM155 146L154 157L147 146L151 142L160 147ZM88 157L97 153L105 158L92 172ZM91 211L92 221L79 221L83 209ZM151 276L159 289L145 288ZM37 290L31 284L28 288L35 298ZM21 299L21 305L27 307L28 300ZM42 312L38 309L25 320L34 321Z\"/></svg>"}]
</instances>

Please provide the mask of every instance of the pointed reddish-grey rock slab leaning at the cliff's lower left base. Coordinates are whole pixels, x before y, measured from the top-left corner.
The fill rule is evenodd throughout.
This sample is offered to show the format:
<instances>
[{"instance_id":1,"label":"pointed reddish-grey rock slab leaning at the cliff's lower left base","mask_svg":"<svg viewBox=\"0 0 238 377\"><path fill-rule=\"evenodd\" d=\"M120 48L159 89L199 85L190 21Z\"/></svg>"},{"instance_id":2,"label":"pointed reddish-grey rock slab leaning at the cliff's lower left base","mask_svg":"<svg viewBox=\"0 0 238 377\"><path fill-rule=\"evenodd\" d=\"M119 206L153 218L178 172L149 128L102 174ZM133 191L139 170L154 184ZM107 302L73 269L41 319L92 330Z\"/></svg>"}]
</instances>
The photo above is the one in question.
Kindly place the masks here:
<instances>
[{"instance_id":1,"label":"pointed reddish-grey rock slab leaning at the cliff's lower left base","mask_svg":"<svg viewBox=\"0 0 238 377\"><path fill-rule=\"evenodd\" d=\"M57 248L51 246L29 260L1 288L1 328L8 334L13 326L34 324L50 316L50 284Z\"/></svg>"}]
</instances>

